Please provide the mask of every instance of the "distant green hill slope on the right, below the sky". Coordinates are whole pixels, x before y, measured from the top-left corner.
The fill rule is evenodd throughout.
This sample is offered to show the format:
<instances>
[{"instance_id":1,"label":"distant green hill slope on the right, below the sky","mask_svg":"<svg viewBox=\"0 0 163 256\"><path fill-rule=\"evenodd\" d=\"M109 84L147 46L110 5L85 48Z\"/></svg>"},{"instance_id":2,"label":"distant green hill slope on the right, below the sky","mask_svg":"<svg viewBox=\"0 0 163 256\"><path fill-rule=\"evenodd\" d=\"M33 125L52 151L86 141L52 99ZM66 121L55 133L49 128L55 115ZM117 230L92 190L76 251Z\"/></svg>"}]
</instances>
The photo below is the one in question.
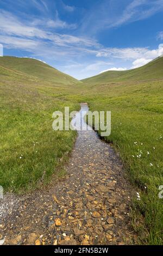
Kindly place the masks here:
<instances>
[{"instance_id":1,"label":"distant green hill slope on the right, below the sky","mask_svg":"<svg viewBox=\"0 0 163 256\"><path fill-rule=\"evenodd\" d=\"M154 80L163 77L163 57L157 58L152 62L137 69L126 71L106 71L97 76L86 78L83 82L89 84L102 84L107 82L121 82L128 80Z\"/></svg>"}]
</instances>

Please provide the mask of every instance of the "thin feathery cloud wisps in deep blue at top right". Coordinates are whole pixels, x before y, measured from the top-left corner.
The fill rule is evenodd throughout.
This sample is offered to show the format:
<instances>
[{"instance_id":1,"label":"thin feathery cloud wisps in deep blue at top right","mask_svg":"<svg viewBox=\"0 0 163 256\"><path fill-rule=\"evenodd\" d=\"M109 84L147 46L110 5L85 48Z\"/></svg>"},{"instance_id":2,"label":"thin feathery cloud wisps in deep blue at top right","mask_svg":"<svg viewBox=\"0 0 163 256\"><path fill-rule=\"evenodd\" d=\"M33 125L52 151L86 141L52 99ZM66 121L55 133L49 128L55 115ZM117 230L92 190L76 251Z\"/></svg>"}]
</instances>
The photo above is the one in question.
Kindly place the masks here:
<instances>
[{"instance_id":1,"label":"thin feathery cloud wisps in deep blue at top right","mask_svg":"<svg viewBox=\"0 0 163 256\"><path fill-rule=\"evenodd\" d=\"M103 0L87 11L82 32L97 34L104 29L145 20L163 10L163 0Z\"/></svg>"}]
</instances>

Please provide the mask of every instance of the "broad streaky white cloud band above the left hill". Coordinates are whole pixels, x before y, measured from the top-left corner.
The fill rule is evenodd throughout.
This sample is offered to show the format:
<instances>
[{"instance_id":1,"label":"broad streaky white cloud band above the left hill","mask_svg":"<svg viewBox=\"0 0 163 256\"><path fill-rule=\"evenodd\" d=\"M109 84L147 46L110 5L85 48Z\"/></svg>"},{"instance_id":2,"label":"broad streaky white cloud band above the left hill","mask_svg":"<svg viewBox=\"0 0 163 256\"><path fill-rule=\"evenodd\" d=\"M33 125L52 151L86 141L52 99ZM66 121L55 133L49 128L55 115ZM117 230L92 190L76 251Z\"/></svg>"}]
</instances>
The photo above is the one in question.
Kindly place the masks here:
<instances>
[{"instance_id":1,"label":"broad streaky white cloud band above the left hill","mask_svg":"<svg viewBox=\"0 0 163 256\"><path fill-rule=\"evenodd\" d=\"M78 37L70 34L58 33L47 26L62 27L66 23L61 21L42 22L34 19L20 20L8 11L0 10L0 42L7 48L18 48L32 51L33 54L54 56L75 56L76 54L88 53L95 54L95 49L99 47L96 40ZM39 46L39 47L38 47Z\"/></svg>"}]
</instances>

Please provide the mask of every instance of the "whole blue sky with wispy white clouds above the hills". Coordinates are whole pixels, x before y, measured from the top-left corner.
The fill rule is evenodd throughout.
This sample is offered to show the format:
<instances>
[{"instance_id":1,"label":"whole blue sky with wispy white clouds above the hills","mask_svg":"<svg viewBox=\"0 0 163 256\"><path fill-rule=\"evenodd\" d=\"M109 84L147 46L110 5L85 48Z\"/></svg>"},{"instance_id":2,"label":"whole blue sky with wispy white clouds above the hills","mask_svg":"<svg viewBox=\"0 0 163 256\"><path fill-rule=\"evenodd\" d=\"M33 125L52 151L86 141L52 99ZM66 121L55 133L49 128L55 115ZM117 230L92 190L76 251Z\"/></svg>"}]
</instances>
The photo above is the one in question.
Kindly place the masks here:
<instances>
[{"instance_id":1,"label":"whole blue sky with wispy white clouds above the hills","mask_svg":"<svg viewBox=\"0 0 163 256\"><path fill-rule=\"evenodd\" d=\"M163 0L0 0L4 55L82 79L163 54Z\"/></svg>"}]
</instances>

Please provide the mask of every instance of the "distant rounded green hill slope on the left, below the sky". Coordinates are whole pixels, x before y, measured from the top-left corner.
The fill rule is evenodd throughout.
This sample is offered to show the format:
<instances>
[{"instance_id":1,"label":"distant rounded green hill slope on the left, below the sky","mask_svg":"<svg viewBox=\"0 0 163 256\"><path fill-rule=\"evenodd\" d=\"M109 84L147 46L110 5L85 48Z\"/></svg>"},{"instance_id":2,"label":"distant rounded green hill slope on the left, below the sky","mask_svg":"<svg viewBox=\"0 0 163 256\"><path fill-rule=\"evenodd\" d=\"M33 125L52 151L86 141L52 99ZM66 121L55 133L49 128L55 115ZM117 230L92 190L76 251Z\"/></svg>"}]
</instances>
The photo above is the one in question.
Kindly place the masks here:
<instances>
[{"instance_id":1,"label":"distant rounded green hill slope on the left, below the sky","mask_svg":"<svg viewBox=\"0 0 163 256\"><path fill-rule=\"evenodd\" d=\"M39 60L30 58L0 57L0 68L8 69L20 76L39 78L47 82L58 84L76 84L79 81Z\"/></svg>"}]
</instances>

